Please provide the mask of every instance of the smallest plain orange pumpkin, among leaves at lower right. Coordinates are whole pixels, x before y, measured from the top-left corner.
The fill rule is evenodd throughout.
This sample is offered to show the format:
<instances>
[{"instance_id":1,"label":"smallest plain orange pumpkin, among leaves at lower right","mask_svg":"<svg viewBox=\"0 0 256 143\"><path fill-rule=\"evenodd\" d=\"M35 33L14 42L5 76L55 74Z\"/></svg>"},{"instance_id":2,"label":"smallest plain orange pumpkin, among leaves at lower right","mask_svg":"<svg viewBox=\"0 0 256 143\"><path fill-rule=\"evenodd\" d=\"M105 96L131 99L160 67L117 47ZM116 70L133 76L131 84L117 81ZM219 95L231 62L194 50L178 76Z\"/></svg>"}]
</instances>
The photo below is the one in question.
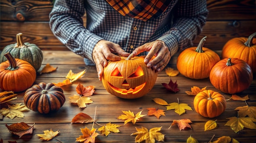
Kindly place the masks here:
<instances>
[{"instance_id":1,"label":"smallest plain orange pumpkin, among leaves at lower right","mask_svg":"<svg viewBox=\"0 0 256 143\"><path fill-rule=\"evenodd\" d=\"M194 108L203 117L217 117L226 109L226 99L223 95L212 90L204 90L194 98Z\"/></svg>"}]
</instances>

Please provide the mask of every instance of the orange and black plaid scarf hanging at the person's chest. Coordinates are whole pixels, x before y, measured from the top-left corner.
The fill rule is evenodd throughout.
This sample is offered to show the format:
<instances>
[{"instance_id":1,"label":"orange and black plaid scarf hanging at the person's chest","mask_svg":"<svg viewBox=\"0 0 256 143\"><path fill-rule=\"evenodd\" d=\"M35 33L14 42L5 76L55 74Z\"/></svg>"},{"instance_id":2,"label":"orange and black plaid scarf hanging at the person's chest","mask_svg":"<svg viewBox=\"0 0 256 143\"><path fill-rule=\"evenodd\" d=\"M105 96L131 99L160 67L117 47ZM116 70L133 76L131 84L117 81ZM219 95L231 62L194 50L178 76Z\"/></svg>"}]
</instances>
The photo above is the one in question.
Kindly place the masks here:
<instances>
[{"instance_id":1,"label":"orange and black plaid scarf hanging at the person's chest","mask_svg":"<svg viewBox=\"0 0 256 143\"><path fill-rule=\"evenodd\" d=\"M172 0L106 0L123 16L147 21L159 17Z\"/></svg>"}]
</instances>

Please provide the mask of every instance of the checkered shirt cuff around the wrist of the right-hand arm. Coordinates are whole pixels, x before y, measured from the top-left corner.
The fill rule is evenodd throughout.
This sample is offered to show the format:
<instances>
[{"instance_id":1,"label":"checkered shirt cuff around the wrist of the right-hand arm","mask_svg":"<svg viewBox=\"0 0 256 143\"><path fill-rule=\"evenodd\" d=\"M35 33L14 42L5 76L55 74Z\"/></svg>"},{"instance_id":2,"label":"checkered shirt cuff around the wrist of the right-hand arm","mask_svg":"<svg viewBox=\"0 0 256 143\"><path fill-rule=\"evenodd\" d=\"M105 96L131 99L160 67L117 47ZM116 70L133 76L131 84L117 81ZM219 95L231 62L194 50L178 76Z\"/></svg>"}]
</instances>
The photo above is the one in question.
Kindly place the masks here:
<instances>
[{"instance_id":1,"label":"checkered shirt cuff around the wrist of the right-hand arm","mask_svg":"<svg viewBox=\"0 0 256 143\"><path fill-rule=\"evenodd\" d=\"M166 44L166 46L169 48L171 52L171 57L179 51L179 42L177 37L179 37L179 33L173 31L171 33L164 34L163 36L157 39L157 40L164 41L164 43Z\"/></svg>"}]
</instances>

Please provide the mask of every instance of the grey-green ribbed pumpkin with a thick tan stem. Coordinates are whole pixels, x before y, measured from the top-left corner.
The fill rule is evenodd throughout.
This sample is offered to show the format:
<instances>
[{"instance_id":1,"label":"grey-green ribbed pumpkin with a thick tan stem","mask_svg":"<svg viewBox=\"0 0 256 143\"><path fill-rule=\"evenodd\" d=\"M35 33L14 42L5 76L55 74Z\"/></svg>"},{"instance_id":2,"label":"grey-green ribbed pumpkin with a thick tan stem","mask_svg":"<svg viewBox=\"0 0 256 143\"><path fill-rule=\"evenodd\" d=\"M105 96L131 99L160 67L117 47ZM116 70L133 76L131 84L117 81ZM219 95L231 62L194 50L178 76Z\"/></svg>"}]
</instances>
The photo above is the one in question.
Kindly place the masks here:
<instances>
[{"instance_id":1,"label":"grey-green ribbed pumpkin with a thick tan stem","mask_svg":"<svg viewBox=\"0 0 256 143\"><path fill-rule=\"evenodd\" d=\"M17 43L7 45L0 54L0 63L7 61L4 53L11 53L14 58L19 58L29 62L38 71L43 62L43 52L37 45L31 43L24 43L22 33L16 35Z\"/></svg>"}]
</instances>

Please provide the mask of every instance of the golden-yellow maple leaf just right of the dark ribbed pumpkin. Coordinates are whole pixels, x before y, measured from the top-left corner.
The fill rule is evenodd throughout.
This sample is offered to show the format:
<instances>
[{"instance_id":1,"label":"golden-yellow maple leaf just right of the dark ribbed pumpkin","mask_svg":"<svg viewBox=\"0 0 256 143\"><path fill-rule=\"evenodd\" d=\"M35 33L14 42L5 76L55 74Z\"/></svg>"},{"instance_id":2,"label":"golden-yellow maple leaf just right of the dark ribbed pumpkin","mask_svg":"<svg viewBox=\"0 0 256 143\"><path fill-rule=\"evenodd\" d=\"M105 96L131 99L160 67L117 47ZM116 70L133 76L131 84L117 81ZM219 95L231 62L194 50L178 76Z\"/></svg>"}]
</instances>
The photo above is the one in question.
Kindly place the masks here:
<instances>
[{"instance_id":1,"label":"golden-yellow maple leaf just right of the dark ribbed pumpkin","mask_svg":"<svg viewBox=\"0 0 256 143\"><path fill-rule=\"evenodd\" d=\"M73 95L69 97L71 103L76 103L79 108L85 108L86 104L93 103L91 98L81 96L81 95Z\"/></svg>"}]
</instances>

